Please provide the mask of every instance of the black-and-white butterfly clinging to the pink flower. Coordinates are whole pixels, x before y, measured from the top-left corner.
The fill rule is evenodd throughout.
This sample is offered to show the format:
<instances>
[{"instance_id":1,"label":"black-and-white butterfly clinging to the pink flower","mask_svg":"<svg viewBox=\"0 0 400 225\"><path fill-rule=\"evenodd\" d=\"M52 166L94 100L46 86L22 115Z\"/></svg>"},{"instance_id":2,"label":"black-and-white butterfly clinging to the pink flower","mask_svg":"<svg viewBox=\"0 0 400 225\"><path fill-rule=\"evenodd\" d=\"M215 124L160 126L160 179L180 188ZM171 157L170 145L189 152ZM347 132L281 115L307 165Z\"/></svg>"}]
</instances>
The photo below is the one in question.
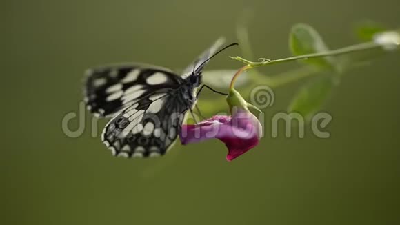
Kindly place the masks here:
<instances>
[{"instance_id":1,"label":"black-and-white butterfly clinging to the pink flower","mask_svg":"<svg viewBox=\"0 0 400 225\"><path fill-rule=\"evenodd\" d=\"M181 76L168 68L141 63L86 70L84 100L95 116L112 118L101 139L113 155L154 157L168 152L199 92L210 88L203 85L196 93L203 67L214 55L237 45L219 50L223 43L223 38L218 39Z\"/></svg>"}]
</instances>

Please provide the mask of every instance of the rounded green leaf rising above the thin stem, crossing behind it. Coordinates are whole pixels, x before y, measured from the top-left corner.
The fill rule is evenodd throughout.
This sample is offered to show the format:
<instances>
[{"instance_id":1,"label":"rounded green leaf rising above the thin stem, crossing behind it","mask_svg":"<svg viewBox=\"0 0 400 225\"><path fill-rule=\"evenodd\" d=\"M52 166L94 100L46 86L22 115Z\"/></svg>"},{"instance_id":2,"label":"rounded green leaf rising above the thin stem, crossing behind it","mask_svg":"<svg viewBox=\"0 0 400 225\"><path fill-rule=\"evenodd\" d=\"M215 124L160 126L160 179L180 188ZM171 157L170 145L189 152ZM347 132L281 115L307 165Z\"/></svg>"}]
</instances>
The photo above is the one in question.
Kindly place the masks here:
<instances>
[{"instance_id":1,"label":"rounded green leaf rising above the thin stem, crossing behind it","mask_svg":"<svg viewBox=\"0 0 400 225\"><path fill-rule=\"evenodd\" d=\"M317 30L304 23L298 23L292 27L289 45L293 55L307 55L328 51L328 47L323 43L322 37ZM307 59L305 62L323 68L337 68L337 62L334 57L312 58Z\"/></svg>"}]
</instances>

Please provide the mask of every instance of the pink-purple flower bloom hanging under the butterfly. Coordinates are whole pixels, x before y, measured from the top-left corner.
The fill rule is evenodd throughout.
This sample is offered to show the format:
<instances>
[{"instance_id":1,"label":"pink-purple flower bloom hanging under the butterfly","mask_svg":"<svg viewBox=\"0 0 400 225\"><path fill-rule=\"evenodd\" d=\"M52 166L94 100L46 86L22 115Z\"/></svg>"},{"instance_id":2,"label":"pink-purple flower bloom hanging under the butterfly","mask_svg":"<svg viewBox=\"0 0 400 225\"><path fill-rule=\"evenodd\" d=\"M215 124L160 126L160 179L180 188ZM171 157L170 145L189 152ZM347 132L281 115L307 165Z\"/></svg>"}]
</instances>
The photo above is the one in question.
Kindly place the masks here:
<instances>
[{"instance_id":1,"label":"pink-purple flower bloom hanging under the butterfly","mask_svg":"<svg viewBox=\"0 0 400 225\"><path fill-rule=\"evenodd\" d=\"M237 110L232 116L215 115L199 124L183 124L179 137L182 144L217 138L226 144L231 161L259 144L261 124L247 110Z\"/></svg>"}]
</instances>

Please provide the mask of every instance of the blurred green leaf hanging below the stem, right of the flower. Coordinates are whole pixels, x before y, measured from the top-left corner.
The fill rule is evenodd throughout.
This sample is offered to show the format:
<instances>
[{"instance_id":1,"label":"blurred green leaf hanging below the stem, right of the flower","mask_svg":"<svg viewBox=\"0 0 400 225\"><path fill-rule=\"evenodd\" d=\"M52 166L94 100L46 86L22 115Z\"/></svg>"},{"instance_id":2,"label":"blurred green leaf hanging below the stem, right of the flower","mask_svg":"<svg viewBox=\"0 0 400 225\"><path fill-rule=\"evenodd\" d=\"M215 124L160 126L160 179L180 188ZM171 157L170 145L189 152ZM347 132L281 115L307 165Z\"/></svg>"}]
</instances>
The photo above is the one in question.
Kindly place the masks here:
<instances>
[{"instance_id":1,"label":"blurred green leaf hanging below the stem, right of the flower","mask_svg":"<svg viewBox=\"0 0 400 225\"><path fill-rule=\"evenodd\" d=\"M312 119L314 113L321 110L323 104L330 97L333 82L330 77L319 77L303 86L294 96L289 112L300 113L307 121Z\"/></svg>"}]
</instances>

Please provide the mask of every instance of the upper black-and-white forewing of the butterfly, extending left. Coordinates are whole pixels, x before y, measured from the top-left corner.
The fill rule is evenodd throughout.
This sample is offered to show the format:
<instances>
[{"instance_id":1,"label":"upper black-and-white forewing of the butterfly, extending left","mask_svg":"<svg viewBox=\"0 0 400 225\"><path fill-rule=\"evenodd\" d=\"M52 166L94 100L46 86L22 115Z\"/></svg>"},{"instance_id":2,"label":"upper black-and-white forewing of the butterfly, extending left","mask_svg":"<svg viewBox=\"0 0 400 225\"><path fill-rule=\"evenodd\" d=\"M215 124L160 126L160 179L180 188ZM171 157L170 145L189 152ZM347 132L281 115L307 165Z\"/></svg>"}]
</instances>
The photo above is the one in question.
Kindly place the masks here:
<instances>
[{"instance_id":1,"label":"upper black-and-white forewing of the butterfly, extending left","mask_svg":"<svg viewBox=\"0 0 400 225\"><path fill-rule=\"evenodd\" d=\"M156 90L178 88L182 78L167 68L119 64L86 71L85 101L91 113L112 117Z\"/></svg>"}]
</instances>

